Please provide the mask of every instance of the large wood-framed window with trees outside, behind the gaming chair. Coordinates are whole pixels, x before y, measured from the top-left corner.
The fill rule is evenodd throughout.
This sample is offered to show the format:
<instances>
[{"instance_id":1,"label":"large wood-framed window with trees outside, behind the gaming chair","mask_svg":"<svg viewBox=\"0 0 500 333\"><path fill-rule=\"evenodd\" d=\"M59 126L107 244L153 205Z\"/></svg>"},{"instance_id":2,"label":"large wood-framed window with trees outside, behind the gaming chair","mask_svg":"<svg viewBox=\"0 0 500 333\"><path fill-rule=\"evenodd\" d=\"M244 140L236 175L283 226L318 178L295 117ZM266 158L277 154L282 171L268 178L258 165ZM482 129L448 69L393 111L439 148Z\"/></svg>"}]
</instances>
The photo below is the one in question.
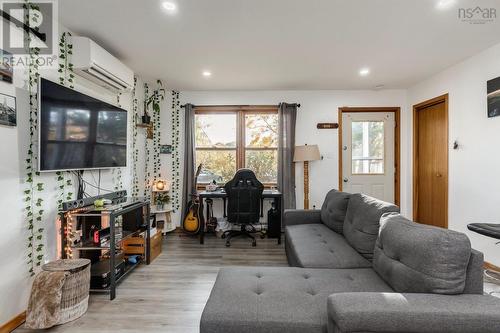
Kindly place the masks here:
<instances>
[{"instance_id":1,"label":"large wood-framed window with trees outside, behind the gaming chair","mask_svg":"<svg viewBox=\"0 0 500 333\"><path fill-rule=\"evenodd\" d=\"M248 168L265 185L278 178L277 107L199 107L195 109L199 184L224 184Z\"/></svg>"}]
</instances>

